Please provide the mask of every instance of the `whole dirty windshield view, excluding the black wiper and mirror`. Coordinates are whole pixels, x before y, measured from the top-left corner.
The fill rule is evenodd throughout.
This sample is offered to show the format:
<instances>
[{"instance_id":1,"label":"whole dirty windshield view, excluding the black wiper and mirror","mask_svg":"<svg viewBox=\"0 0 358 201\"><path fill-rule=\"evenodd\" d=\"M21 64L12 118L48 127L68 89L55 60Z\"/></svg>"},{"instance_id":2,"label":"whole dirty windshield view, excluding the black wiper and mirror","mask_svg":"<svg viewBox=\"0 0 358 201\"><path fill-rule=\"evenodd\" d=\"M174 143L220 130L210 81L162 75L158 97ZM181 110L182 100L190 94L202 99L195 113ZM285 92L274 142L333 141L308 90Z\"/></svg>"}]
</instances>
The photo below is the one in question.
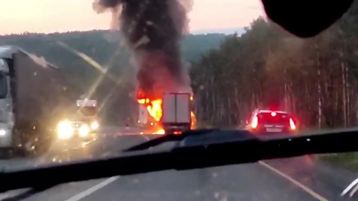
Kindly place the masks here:
<instances>
[{"instance_id":1,"label":"whole dirty windshield view, excluding the black wiper and mirror","mask_svg":"<svg viewBox=\"0 0 358 201\"><path fill-rule=\"evenodd\" d=\"M0 99L0 170L106 160L198 129L266 139L358 126L358 0L309 38L272 22L261 0L0 0L0 8L0 61L11 74L7 88L0 77L0 97L8 92ZM263 152L220 157L251 161ZM97 173L64 171L87 172ZM358 200L357 175L356 152L308 153L9 191L0 200Z\"/></svg>"}]
</instances>

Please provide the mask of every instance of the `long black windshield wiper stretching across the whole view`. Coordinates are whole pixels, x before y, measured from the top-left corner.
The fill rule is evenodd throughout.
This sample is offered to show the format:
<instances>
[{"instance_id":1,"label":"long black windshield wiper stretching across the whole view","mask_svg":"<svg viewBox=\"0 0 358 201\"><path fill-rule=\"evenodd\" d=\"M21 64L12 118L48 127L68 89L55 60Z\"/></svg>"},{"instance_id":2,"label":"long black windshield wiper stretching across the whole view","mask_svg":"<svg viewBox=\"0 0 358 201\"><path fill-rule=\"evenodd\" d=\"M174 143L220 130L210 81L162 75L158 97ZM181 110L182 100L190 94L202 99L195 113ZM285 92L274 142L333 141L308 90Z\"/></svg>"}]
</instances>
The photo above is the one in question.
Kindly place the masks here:
<instances>
[{"instance_id":1,"label":"long black windshield wiper stretching across the whole view","mask_svg":"<svg viewBox=\"0 0 358 201\"><path fill-rule=\"evenodd\" d=\"M223 140L216 141L217 139ZM357 141L357 129L267 138L255 137L247 131L213 130L207 134L186 136L180 146L163 152L129 152L130 155L120 157L1 172L0 192L114 175L197 169L305 154L358 151Z\"/></svg>"}]
</instances>

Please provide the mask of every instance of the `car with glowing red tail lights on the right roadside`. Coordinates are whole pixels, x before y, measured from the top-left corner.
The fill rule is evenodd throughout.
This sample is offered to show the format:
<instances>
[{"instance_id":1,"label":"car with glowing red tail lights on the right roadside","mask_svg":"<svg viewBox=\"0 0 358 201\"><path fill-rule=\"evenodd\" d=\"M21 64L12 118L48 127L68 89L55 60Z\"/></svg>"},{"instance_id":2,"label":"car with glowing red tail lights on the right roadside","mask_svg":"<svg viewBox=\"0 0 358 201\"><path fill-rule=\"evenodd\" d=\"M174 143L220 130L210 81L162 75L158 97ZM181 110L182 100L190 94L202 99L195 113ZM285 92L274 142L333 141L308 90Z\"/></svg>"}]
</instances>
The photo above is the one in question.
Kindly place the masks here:
<instances>
[{"instance_id":1,"label":"car with glowing red tail lights on the right roadside","mask_svg":"<svg viewBox=\"0 0 358 201\"><path fill-rule=\"evenodd\" d=\"M256 110L245 129L254 134L296 134L294 118L284 111Z\"/></svg>"}]
</instances>

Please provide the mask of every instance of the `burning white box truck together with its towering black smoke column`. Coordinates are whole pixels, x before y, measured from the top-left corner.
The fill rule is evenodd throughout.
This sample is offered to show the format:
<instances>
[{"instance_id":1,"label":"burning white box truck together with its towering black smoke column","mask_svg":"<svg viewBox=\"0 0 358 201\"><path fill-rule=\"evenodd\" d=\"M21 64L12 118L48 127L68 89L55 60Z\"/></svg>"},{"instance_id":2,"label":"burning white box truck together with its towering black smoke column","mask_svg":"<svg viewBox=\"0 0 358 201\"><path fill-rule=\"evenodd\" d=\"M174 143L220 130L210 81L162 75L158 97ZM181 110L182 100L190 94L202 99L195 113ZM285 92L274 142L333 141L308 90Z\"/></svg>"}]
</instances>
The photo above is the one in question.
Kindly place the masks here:
<instances>
[{"instance_id":1,"label":"burning white box truck together with its towering black smoke column","mask_svg":"<svg viewBox=\"0 0 358 201\"><path fill-rule=\"evenodd\" d=\"M180 55L180 41L189 30L187 13L192 6L193 0L92 3L97 13L112 12L112 28L119 28L136 68L139 124L158 134L180 133L195 125L189 68Z\"/></svg>"}]
</instances>

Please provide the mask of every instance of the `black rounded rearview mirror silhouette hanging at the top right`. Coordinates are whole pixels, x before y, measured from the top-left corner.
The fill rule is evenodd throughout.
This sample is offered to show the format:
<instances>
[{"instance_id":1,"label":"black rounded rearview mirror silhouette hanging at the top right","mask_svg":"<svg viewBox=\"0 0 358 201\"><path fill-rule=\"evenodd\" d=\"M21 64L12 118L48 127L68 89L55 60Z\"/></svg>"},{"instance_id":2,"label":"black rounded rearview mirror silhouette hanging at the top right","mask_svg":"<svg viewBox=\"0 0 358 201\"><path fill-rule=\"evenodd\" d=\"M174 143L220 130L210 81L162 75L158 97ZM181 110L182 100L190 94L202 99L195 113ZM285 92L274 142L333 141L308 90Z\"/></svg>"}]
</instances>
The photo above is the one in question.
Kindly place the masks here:
<instances>
[{"instance_id":1,"label":"black rounded rearview mirror silhouette hanging at the top right","mask_svg":"<svg viewBox=\"0 0 358 201\"><path fill-rule=\"evenodd\" d=\"M302 38L315 36L342 17L354 0L261 0L269 19Z\"/></svg>"}]
</instances>

